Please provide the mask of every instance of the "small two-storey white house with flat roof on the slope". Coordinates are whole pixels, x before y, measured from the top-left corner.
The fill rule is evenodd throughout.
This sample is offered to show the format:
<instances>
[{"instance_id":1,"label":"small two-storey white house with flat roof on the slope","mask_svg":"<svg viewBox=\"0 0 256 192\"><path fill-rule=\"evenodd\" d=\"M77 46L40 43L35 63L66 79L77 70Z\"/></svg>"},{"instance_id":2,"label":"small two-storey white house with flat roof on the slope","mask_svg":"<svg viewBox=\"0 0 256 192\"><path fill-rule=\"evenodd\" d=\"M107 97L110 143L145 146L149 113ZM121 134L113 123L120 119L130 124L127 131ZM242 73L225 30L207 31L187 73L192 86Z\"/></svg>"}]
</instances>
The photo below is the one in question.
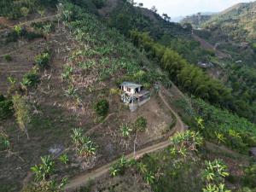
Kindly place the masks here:
<instances>
[{"instance_id":1,"label":"small two-storey white house with flat roof on the slope","mask_svg":"<svg viewBox=\"0 0 256 192\"><path fill-rule=\"evenodd\" d=\"M150 100L150 92L143 90L142 84L125 81L120 84L120 90L122 90L122 102L129 104L131 111L135 111L139 106Z\"/></svg>"}]
</instances>

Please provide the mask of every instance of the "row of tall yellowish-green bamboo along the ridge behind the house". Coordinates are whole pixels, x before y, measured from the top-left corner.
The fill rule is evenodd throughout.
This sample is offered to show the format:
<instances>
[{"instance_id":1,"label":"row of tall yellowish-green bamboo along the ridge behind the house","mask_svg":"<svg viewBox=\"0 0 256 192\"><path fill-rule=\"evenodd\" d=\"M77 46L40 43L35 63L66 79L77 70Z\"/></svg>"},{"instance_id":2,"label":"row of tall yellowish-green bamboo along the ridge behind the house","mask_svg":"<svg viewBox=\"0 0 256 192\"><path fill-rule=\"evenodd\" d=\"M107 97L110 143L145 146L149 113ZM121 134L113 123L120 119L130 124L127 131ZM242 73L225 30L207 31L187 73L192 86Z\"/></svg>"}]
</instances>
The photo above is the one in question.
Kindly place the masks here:
<instances>
[{"instance_id":1,"label":"row of tall yellowish-green bamboo along the ridge behind the house","mask_svg":"<svg viewBox=\"0 0 256 192\"><path fill-rule=\"evenodd\" d=\"M174 50L154 43L148 33L131 32L134 44L142 45L160 61L160 66L170 74L170 78L183 90L212 103L226 105L230 100L230 90L219 81L211 79L198 67L190 65Z\"/></svg>"}]
</instances>

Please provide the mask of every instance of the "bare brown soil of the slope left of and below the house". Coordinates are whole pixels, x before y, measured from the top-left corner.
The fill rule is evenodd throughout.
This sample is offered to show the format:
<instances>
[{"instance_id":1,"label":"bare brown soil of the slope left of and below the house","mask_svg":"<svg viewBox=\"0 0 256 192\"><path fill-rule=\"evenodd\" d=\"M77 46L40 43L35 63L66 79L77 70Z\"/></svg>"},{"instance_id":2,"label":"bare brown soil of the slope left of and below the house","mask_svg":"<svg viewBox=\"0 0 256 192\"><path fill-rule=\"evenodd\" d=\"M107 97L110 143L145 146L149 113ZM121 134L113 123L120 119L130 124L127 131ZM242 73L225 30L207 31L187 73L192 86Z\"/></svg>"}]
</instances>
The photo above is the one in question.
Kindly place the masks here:
<instances>
[{"instance_id":1,"label":"bare brown soil of the slope left of and below the house","mask_svg":"<svg viewBox=\"0 0 256 192\"><path fill-rule=\"evenodd\" d=\"M18 191L22 183L31 182L30 168L40 162L40 156L51 154L50 149L55 146L72 146L70 135L73 128L80 127L84 133L93 130L88 135L98 146L97 154L96 157L83 159L70 148L67 150L71 161L68 166L63 166L56 160L57 174L60 177L72 177L133 151L136 133L132 133L129 138L123 138L119 130L121 123L130 125L139 115L147 119L148 129L137 134L136 148L145 147L165 136L172 125L172 115L158 96L153 96L150 102L135 113L125 108L119 101L119 96L109 96L111 115L102 124L96 122L96 114L91 108L92 102L102 91L108 92L109 87L113 87L112 81L96 84L98 90L94 92L81 87L79 95L82 104L79 107L75 106L65 96L67 84L62 81L61 73L63 65L67 63L67 56L77 49L77 44L63 26L56 27L55 32L47 39L38 38L31 42L21 42L20 45L8 44L0 49L0 55L9 54L12 57L12 61L9 62L3 57L0 58L0 91L4 94L7 92L7 78L10 75L20 81L33 67L35 55L47 48L51 50L52 55L50 67L41 72L41 83L36 89L29 90L27 96L33 109L32 122L28 127L31 140L26 140L24 133L19 131L15 118L1 122L1 131L7 133L11 141L11 153L0 153L0 191ZM87 75L90 74L84 74L84 78Z\"/></svg>"}]
</instances>

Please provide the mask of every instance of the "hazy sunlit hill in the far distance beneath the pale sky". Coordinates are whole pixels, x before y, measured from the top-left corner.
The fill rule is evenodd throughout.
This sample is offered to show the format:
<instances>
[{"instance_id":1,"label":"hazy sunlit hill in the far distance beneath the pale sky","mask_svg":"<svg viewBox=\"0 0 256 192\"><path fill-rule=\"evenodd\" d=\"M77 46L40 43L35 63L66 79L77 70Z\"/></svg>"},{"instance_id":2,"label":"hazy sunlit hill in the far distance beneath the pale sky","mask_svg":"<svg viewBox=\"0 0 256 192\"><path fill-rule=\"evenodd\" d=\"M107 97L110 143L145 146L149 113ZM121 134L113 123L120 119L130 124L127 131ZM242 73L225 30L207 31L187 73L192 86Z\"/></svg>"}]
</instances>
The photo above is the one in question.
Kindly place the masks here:
<instances>
[{"instance_id":1,"label":"hazy sunlit hill in the far distance beneath the pale sky","mask_svg":"<svg viewBox=\"0 0 256 192\"><path fill-rule=\"evenodd\" d=\"M256 41L256 2L237 3L215 15L192 15L183 20L195 28L204 28L215 38ZM222 39L217 39L222 40Z\"/></svg>"}]
</instances>

